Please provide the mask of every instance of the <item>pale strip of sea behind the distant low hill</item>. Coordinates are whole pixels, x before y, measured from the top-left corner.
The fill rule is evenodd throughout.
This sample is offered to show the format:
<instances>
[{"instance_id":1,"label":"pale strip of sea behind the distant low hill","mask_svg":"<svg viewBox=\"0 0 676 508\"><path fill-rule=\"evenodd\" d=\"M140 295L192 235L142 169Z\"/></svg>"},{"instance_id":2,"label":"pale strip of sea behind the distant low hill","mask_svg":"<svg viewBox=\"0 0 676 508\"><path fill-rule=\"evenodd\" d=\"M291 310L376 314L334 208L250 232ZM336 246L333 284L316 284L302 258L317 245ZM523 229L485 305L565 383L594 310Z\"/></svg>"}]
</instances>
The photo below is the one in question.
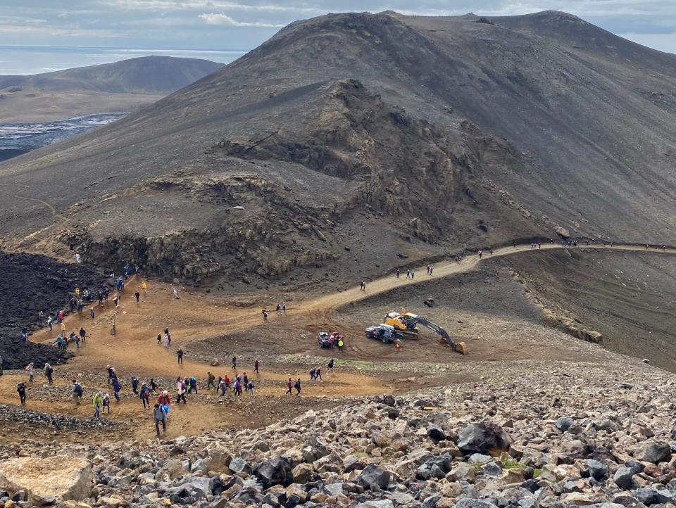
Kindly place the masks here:
<instances>
[{"instance_id":1,"label":"pale strip of sea behind the distant low hill","mask_svg":"<svg viewBox=\"0 0 676 508\"><path fill-rule=\"evenodd\" d=\"M31 75L42 72L113 63L139 56L202 58L230 63L247 51L237 49L149 49L94 46L4 46L0 45L0 75Z\"/></svg>"}]
</instances>

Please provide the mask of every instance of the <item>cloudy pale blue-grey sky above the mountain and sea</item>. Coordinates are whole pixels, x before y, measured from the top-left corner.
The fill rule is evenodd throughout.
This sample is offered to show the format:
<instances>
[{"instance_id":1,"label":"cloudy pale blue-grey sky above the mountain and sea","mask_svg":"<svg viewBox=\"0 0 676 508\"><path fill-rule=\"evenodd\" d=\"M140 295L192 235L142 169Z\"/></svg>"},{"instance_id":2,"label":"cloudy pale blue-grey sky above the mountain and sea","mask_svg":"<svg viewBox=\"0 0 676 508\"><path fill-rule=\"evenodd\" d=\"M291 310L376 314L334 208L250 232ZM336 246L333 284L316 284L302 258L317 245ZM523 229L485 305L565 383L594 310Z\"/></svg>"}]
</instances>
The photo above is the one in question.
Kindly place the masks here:
<instances>
[{"instance_id":1,"label":"cloudy pale blue-grey sky above the mountain and sea","mask_svg":"<svg viewBox=\"0 0 676 508\"><path fill-rule=\"evenodd\" d=\"M0 42L150 49L252 49L280 27L327 12L423 15L566 11L676 52L675 0L0 0Z\"/></svg>"}]
</instances>

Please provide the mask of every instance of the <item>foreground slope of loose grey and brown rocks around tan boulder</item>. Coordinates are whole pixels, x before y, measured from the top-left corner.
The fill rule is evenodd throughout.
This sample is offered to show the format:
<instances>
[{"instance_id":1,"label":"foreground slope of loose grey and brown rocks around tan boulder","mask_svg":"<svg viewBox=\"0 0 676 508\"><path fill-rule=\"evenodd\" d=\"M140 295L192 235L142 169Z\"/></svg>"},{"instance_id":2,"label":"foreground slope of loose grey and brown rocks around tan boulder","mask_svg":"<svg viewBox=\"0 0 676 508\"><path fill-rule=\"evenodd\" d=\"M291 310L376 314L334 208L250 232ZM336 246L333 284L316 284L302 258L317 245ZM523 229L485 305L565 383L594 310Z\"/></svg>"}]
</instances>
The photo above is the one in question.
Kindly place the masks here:
<instances>
[{"instance_id":1,"label":"foreground slope of loose grey and brown rocks around tan boulder","mask_svg":"<svg viewBox=\"0 0 676 508\"><path fill-rule=\"evenodd\" d=\"M17 478L4 508L671 508L676 379L653 367L512 362L480 382L362 398L233 433L111 445L4 447L82 457L77 497ZM44 459L42 459L44 462ZM0 478L0 482L1 482ZM35 501L37 500L37 502Z\"/></svg>"}]
</instances>

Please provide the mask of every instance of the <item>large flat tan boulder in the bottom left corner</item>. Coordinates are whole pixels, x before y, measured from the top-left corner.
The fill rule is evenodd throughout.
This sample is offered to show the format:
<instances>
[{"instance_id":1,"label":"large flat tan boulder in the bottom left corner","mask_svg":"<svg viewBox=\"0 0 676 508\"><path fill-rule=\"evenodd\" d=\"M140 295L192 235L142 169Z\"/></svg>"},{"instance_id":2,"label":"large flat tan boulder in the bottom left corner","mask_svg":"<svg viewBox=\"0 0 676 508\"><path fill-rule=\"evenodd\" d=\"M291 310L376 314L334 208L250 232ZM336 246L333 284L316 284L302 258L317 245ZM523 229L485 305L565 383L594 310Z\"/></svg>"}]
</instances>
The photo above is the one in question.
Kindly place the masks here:
<instances>
[{"instance_id":1,"label":"large flat tan boulder in the bottom left corner","mask_svg":"<svg viewBox=\"0 0 676 508\"><path fill-rule=\"evenodd\" d=\"M10 495L25 490L35 504L51 497L80 501L89 497L93 481L92 464L80 457L16 457L0 463L0 490Z\"/></svg>"}]
</instances>

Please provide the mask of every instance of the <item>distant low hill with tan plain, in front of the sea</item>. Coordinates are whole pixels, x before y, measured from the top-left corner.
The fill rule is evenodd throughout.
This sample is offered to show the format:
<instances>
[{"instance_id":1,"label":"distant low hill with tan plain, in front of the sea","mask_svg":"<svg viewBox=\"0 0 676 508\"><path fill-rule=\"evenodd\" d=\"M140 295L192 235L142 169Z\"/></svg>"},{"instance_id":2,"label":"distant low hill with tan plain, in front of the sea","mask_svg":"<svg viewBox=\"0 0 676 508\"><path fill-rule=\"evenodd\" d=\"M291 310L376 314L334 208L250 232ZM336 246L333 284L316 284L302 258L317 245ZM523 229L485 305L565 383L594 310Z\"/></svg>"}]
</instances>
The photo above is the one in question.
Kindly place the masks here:
<instances>
[{"instance_id":1,"label":"distant low hill with tan plain, in front of the sea","mask_svg":"<svg viewBox=\"0 0 676 508\"><path fill-rule=\"evenodd\" d=\"M0 122L137 110L221 67L196 58L144 56L32 76L0 76Z\"/></svg>"}]
</instances>

